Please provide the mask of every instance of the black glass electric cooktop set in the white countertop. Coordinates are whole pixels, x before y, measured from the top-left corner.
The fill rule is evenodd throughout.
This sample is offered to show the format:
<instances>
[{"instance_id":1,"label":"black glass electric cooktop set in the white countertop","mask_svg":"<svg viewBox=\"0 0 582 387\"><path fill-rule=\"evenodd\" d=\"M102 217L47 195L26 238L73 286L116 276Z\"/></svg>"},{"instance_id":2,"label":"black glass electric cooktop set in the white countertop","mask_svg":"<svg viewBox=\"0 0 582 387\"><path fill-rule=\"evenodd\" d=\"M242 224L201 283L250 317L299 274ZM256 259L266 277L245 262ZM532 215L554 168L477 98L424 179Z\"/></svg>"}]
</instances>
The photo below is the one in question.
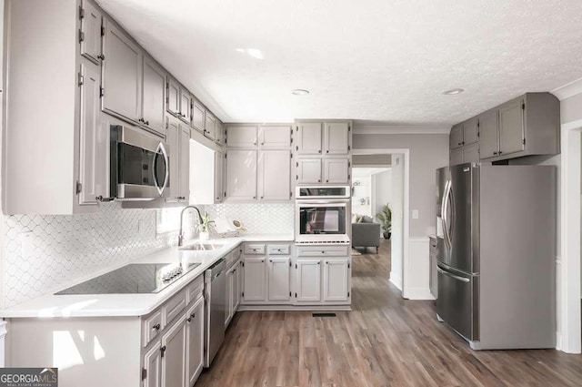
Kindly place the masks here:
<instances>
[{"instance_id":1,"label":"black glass electric cooktop set in the white countertop","mask_svg":"<svg viewBox=\"0 0 582 387\"><path fill-rule=\"evenodd\" d=\"M55 294L157 293L200 263L132 263Z\"/></svg>"}]
</instances>

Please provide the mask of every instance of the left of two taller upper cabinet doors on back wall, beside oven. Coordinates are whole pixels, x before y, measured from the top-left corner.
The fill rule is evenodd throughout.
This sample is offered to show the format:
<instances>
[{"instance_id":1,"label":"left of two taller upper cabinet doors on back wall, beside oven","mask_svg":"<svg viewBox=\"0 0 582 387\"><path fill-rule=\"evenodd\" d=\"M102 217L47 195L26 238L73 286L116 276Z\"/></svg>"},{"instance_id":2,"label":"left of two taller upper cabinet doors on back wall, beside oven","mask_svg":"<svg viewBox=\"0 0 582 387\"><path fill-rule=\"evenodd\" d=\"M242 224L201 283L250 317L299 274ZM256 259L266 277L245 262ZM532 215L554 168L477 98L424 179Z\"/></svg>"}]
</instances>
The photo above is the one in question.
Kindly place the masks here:
<instances>
[{"instance_id":1,"label":"left of two taller upper cabinet doors on back wall, beside oven","mask_svg":"<svg viewBox=\"0 0 582 387\"><path fill-rule=\"evenodd\" d=\"M226 154L226 199L256 199L256 150L231 149Z\"/></svg>"}]
</instances>

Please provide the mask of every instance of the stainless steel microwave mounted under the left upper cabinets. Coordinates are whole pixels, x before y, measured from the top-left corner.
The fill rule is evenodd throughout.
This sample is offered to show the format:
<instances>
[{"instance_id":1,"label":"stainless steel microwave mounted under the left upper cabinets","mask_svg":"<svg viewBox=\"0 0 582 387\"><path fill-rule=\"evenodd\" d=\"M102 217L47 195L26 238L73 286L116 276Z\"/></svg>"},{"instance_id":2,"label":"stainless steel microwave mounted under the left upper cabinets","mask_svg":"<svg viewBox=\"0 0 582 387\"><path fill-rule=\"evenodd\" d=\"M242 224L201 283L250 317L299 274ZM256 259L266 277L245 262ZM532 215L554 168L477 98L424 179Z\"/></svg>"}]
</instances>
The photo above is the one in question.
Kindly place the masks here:
<instances>
[{"instance_id":1,"label":"stainless steel microwave mounted under the left upper cabinets","mask_svg":"<svg viewBox=\"0 0 582 387\"><path fill-rule=\"evenodd\" d=\"M170 157L166 139L136 127L110 127L109 196L117 200L167 198Z\"/></svg>"}]
</instances>

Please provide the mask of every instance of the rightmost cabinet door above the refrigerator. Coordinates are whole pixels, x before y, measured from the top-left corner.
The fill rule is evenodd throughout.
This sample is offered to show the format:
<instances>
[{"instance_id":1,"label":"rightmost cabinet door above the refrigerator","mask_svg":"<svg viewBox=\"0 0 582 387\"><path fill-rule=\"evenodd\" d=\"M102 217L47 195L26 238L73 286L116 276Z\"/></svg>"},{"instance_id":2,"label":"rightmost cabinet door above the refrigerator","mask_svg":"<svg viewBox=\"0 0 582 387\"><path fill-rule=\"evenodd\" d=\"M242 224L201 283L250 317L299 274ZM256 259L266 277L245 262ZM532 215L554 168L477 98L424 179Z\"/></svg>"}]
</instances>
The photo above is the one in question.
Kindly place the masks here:
<instances>
[{"instance_id":1,"label":"rightmost cabinet door above the refrigerator","mask_svg":"<svg viewBox=\"0 0 582 387\"><path fill-rule=\"evenodd\" d=\"M523 100L499 107L499 155L524 150L524 138Z\"/></svg>"}]
</instances>

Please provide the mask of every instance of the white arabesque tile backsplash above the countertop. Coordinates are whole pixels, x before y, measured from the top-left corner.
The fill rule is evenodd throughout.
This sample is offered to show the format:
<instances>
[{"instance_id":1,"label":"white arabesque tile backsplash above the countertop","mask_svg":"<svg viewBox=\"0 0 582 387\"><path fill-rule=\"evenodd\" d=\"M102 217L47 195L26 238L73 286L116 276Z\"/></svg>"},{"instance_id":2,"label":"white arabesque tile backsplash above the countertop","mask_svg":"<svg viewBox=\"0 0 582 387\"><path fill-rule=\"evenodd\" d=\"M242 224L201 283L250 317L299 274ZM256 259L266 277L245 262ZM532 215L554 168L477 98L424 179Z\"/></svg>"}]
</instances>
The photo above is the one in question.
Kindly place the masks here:
<instances>
[{"instance_id":1,"label":"white arabesque tile backsplash above the countertop","mask_svg":"<svg viewBox=\"0 0 582 387\"><path fill-rule=\"evenodd\" d=\"M241 220L249 233L293 232L293 203L217 204L206 211L215 219ZM192 230L195 213L186 214ZM2 222L3 307L176 245L176 232L156 235L156 209L122 209L115 202L93 214L10 215Z\"/></svg>"}]
</instances>

